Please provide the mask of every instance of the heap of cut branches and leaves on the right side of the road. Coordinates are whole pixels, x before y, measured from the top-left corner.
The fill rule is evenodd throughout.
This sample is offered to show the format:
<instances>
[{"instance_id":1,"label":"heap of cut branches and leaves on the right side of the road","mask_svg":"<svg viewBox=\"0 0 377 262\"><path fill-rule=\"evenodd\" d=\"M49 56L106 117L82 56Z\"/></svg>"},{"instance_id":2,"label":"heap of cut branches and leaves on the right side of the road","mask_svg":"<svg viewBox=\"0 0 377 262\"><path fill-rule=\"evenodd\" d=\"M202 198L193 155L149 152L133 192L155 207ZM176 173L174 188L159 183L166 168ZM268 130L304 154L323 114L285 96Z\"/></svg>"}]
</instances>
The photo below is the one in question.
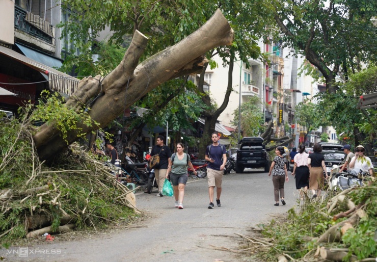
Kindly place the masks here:
<instances>
[{"instance_id":1,"label":"heap of cut branches and leaves on the right side of the road","mask_svg":"<svg viewBox=\"0 0 377 262\"><path fill-rule=\"evenodd\" d=\"M365 184L316 199L306 195L287 218L260 225L253 235L239 234L247 240L243 254L279 262L375 261L377 182L371 177Z\"/></svg>"}]
</instances>

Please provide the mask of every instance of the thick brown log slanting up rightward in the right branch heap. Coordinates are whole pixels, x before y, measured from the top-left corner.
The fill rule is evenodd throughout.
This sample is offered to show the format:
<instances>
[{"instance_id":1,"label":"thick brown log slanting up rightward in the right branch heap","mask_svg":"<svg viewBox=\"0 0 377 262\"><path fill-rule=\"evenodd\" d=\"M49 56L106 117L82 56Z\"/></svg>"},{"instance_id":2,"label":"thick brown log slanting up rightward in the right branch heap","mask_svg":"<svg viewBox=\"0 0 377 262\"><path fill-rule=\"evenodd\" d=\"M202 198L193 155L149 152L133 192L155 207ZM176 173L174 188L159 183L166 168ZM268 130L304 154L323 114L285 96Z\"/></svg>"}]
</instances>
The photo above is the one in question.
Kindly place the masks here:
<instances>
[{"instance_id":1,"label":"thick brown log slanting up rightward in the right branch heap","mask_svg":"<svg viewBox=\"0 0 377 262\"><path fill-rule=\"evenodd\" d=\"M363 209L358 209L350 218L344 220L338 224L333 225L325 233L323 233L317 242L339 242L341 240L340 228L344 226L345 223L349 223L352 226L356 226L359 223L359 220L366 216L366 213Z\"/></svg>"}]
</instances>

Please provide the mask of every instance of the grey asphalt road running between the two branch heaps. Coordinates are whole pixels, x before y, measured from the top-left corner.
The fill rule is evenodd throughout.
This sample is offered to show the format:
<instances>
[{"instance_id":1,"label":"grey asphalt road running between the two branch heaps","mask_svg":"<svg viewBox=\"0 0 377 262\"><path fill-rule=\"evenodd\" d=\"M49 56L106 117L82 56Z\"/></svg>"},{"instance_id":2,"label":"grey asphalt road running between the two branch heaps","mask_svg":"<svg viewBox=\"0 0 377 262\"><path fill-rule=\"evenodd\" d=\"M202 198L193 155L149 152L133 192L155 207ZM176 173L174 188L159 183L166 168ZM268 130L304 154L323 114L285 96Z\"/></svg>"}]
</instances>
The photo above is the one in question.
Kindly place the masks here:
<instances>
[{"instance_id":1,"label":"grey asphalt road running between the two branch heaps","mask_svg":"<svg viewBox=\"0 0 377 262\"><path fill-rule=\"evenodd\" d=\"M148 218L139 227L92 235L91 239L29 246L28 257L9 254L4 248L0 255L8 261L241 261L234 253L214 247L237 248L239 238L234 233L248 234L251 226L267 223L297 204L290 172L285 184L287 204L274 206L272 178L262 171L248 171L251 169L224 176L221 207L215 203L213 209L207 208L206 178L190 179L184 209L174 207L173 197L140 192L137 206Z\"/></svg>"}]
</instances>

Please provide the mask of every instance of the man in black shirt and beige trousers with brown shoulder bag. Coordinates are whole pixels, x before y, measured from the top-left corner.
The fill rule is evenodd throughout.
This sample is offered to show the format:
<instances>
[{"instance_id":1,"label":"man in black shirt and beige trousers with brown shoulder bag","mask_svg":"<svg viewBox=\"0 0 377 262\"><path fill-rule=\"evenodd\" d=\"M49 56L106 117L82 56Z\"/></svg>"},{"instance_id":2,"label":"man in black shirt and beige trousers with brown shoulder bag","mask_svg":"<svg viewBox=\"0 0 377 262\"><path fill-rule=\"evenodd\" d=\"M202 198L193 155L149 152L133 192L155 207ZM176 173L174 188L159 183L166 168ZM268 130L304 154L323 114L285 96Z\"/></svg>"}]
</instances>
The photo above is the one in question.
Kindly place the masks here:
<instances>
[{"instance_id":1,"label":"man in black shirt and beige trousers with brown shoulder bag","mask_svg":"<svg viewBox=\"0 0 377 262\"><path fill-rule=\"evenodd\" d=\"M150 155L159 154L159 163L154 167L154 176L158 185L158 193L156 196L163 197L163 187L165 182L165 174L168 170L168 164L172 152L170 148L164 144L165 138L163 136L157 136L156 145L153 146Z\"/></svg>"}]
</instances>

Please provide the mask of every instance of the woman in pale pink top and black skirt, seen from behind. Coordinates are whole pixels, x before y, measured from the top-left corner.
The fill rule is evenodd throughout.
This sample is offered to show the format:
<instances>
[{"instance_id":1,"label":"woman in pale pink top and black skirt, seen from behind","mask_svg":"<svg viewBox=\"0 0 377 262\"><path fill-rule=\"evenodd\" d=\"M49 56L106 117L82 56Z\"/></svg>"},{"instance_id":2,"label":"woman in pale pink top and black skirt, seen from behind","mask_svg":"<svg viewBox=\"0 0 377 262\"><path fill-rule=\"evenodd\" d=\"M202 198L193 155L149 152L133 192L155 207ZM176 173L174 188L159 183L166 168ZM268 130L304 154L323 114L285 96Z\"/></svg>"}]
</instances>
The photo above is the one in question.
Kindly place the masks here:
<instances>
[{"instance_id":1,"label":"woman in pale pink top and black skirt, seen from behind","mask_svg":"<svg viewBox=\"0 0 377 262\"><path fill-rule=\"evenodd\" d=\"M300 151L294 156L294 166L292 175L296 179L296 189L300 192L300 199L304 200L304 192L308 190L309 187L309 167L308 167L308 156L309 154L305 152L305 145L300 145ZM304 188L304 191L301 189Z\"/></svg>"}]
</instances>

